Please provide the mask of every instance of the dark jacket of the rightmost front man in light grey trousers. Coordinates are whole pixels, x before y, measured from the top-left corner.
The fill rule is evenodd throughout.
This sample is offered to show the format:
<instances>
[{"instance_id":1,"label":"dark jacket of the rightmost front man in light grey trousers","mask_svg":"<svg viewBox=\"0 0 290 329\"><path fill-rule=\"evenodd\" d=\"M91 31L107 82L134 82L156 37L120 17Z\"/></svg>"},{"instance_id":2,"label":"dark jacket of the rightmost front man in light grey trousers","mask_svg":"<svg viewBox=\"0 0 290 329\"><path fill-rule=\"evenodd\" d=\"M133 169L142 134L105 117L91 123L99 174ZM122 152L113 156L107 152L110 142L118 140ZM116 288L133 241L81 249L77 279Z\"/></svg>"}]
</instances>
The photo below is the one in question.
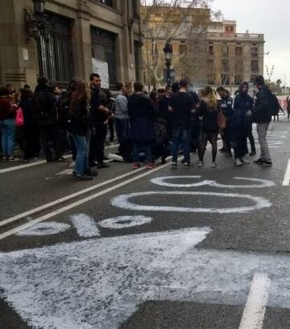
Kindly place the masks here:
<instances>
[{"instance_id":1,"label":"dark jacket of the rightmost front man in light grey trousers","mask_svg":"<svg viewBox=\"0 0 290 329\"><path fill-rule=\"evenodd\" d=\"M253 120L255 123L270 123L271 114L269 109L270 90L265 85L261 87L256 95L256 104L253 113Z\"/></svg>"}]
</instances>

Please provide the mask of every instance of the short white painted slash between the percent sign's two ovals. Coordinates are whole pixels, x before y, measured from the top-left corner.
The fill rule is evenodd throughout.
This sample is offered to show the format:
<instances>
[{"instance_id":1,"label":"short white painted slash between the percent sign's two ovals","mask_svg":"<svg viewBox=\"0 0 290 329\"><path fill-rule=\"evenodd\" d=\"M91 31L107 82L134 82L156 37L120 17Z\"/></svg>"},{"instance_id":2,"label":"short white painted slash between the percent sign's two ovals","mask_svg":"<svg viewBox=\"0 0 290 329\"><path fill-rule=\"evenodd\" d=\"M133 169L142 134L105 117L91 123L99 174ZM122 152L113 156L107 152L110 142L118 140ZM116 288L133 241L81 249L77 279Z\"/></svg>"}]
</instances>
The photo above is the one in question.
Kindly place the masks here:
<instances>
[{"instance_id":1,"label":"short white painted slash between the percent sign's two ovals","mask_svg":"<svg viewBox=\"0 0 290 329\"><path fill-rule=\"evenodd\" d=\"M80 237L100 237L101 234L93 218L85 214L70 216Z\"/></svg>"}]
</instances>

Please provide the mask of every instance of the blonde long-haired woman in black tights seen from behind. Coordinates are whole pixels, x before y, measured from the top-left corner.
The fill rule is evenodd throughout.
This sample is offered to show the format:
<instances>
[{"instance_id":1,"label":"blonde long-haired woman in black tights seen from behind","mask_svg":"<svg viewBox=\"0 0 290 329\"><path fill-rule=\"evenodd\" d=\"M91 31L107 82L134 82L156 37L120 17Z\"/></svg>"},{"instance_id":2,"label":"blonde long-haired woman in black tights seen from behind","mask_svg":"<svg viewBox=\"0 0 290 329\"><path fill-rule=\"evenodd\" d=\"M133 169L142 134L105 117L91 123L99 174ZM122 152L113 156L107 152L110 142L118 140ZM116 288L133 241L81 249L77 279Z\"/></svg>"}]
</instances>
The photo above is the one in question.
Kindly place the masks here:
<instances>
[{"instance_id":1,"label":"blonde long-haired woman in black tights seen from behind","mask_svg":"<svg viewBox=\"0 0 290 329\"><path fill-rule=\"evenodd\" d=\"M218 102L212 87L207 86L202 91L202 99L198 109L198 116L202 118L202 139L199 150L198 167L203 167L203 158L207 142L212 144L212 168L216 167L217 138L219 127L217 125Z\"/></svg>"}]
</instances>

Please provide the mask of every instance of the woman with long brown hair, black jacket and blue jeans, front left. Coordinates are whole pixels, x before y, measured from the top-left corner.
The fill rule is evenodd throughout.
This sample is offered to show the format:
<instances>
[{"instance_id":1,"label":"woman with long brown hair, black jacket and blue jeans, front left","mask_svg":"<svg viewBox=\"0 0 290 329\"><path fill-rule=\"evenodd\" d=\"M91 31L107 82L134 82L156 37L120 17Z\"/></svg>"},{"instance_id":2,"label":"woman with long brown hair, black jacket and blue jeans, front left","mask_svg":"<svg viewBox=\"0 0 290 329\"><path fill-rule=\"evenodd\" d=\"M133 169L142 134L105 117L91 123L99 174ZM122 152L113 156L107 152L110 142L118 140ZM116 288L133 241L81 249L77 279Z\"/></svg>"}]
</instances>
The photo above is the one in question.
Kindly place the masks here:
<instances>
[{"instance_id":1,"label":"woman with long brown hair, black jacket and blue jeans, front left","mask_svg":"<svg viewBox=\"0 0 290 329\"><path fill-rule=\"evenodd\" d=\"M92 180L92 173L88 167L89 104L90 94L85 81L76 80L69 106L69 132L76 146L74 178L78 181Z\"/></svg>"}]
</instances>

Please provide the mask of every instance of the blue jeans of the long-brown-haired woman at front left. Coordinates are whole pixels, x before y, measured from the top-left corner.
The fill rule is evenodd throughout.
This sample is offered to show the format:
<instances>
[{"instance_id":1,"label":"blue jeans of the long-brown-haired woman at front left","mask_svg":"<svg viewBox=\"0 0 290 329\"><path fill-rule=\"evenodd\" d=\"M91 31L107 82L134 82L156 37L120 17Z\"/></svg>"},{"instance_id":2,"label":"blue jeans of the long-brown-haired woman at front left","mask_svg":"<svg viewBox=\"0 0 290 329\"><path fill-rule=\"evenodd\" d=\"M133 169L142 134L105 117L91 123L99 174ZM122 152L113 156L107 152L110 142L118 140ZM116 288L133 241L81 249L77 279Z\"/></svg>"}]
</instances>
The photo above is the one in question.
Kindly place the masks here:
<instances>
[{"instance_id":1,"label":"blue jeans of the long-brown-haired woman at front left","mask_svg":"<svg viewBox=\"0 0 290 329\"><path fill-rule=\"evenodd\" d=\"M85 136L72 134L76 146L76 166L74 171L77 175L83 175L88 170L88 139Z\"/></svg>"}]
</instances>

